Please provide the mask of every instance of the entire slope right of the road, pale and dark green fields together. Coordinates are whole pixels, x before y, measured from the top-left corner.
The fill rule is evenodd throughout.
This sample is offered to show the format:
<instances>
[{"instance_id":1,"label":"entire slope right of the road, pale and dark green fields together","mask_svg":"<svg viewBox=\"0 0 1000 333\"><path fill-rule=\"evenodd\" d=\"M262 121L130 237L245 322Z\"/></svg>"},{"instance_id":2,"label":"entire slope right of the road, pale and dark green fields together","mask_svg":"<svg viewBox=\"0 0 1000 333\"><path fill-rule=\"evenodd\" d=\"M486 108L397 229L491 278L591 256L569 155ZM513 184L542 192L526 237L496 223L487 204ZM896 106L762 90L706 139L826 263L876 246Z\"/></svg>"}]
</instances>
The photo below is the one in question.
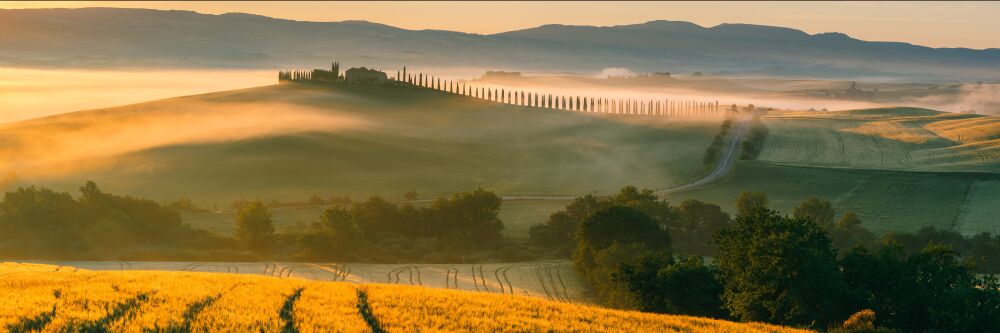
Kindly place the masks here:
<instances>
[{"instance_id":1,"label":"entire slope right of the road, pale and dark green fields together","mask_svg":"<svg viewBox=\"0 0 1000 333\"><path fill-rule=\"evenodd\" d=\"M1000 118L892 108L772 113L765 122L757 161L671 200L732 211L741 191L761 190L786 213L809 196L830 200L876 231L1000 228Z\"/></svg>"}]
</instances>

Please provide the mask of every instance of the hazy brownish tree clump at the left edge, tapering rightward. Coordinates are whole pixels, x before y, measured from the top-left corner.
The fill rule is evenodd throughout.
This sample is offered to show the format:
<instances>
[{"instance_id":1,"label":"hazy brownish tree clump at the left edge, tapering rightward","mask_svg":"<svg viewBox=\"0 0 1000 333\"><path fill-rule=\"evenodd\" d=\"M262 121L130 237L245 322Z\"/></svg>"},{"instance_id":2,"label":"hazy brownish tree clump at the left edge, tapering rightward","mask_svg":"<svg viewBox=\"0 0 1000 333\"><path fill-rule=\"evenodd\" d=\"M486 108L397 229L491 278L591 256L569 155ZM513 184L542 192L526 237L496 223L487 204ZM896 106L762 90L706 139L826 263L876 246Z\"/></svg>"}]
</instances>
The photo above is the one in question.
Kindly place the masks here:
<instances>
[{"instance_id":1,"label":"hazy brownish tree clump at the left edge, tapering rightward","mask_svg":"<svg viewBox=\"0 0 1000 333\"><path fill-rule=\"evenodd\" d=\"M80 196L26 187L0 201L0 254L30 259L240 258L224 237L191 228L176 210L101 191Z\"/></svg>"}]
</instances>

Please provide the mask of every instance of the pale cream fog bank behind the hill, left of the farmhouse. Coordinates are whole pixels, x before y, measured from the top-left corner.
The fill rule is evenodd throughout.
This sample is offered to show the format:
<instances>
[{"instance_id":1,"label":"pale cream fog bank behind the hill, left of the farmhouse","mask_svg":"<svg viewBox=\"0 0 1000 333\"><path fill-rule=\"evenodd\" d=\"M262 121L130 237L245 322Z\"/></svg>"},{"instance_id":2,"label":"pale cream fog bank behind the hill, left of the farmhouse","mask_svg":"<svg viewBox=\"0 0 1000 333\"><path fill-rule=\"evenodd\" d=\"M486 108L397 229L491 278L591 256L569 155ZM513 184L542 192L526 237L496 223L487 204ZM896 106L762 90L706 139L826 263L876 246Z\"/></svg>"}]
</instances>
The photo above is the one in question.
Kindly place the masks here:
<instances>
[{"instance_id":1,"label":"pale cream fog bank behind the hill, left of the farmhouse","mask_svg":"<svg viewBox=\"0 0 1000 333\"><path fill-rule=\"evenodd\" d=\"M275 82L271 70L0 68L0 123Z\"/></svg>"}]
</instances>

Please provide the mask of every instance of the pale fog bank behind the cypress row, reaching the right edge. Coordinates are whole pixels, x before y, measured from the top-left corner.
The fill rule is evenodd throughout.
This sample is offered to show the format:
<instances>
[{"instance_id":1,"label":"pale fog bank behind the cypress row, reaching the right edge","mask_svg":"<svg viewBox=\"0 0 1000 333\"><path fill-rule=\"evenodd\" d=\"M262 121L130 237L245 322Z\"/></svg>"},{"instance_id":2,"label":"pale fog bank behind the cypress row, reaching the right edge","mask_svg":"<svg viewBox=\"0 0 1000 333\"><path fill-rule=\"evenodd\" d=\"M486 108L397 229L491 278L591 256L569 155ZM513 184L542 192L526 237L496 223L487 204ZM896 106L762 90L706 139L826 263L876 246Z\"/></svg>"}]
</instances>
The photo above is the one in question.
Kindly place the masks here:
<instances>
[{"instance_id":1,"label":"pale fog bank behind the cypress row, reaching the right edge","mask_svg":"<svg viewBox=\"0 0 1000 333\"><path fill-rule=\"evenodd\" d=\"M970 112L1000 115L1000 84L997 83L919 83L904 81L837 81L787 79L777 77L742 77L673 73L657 76L623 67L609 67L599 72L538 73L520 76L484 76L472 70L437 69L444 79L466 82L474 87L526 91L557 96L587 96L638 101L697 101L720 105L791 110L851 110L880 107L920 107L945 112ZM436 74L436 73L435 73ZM825 96L842 93L852 82L861 90L877 89L874 98L837 98Z\"/></svg>"}]
</instances>

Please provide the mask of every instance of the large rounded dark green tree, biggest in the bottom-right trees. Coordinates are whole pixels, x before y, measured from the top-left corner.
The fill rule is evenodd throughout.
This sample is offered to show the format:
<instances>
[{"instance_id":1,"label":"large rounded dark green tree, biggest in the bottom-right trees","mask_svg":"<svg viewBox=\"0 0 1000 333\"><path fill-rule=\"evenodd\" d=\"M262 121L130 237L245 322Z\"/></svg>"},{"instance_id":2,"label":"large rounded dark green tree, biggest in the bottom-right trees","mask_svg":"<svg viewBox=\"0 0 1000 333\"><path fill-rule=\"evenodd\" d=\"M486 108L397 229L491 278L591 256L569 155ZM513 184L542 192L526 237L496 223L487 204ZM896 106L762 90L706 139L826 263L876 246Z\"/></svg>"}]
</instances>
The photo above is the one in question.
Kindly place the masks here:
<instances>
[{"instance_id":1,"label":"large rounded dark green tree, biggest in the bottom-right trees","mask_svg":"<svg viewBox=\"0 0 1000 333\"><path fill-rule=\"evenodd\" d=\"M836 252L815 222L745 209L717 242L722 299L733 317L825 328L850 314Z\"/></svg>"}]
</instances>

